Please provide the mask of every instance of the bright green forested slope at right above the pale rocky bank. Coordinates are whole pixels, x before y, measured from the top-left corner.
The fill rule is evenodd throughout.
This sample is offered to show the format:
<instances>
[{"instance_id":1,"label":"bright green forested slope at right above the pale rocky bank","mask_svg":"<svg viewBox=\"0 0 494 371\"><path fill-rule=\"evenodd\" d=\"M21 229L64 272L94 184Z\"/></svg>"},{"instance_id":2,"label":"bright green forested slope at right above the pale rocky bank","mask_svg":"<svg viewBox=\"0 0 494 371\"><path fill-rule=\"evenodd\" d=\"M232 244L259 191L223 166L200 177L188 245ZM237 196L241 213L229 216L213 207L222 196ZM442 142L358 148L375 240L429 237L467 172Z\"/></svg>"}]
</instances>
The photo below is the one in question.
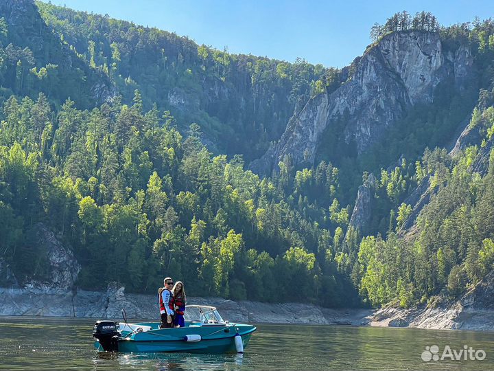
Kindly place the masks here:
<instances>
[{"instance_id":1,"label":"bright green forested slope at right above the pale rocky bank","mask_svg":"<svg viewBox=\"0 0 494 371\"><path fill-rule=\"evenodd\" d=\"M402 203L396 232L360 243L360 293L371 304L396 300L410 306L438 294L457 297L493 270L493 91L483 91L482 98L467 128L478 131L481 144L464 146L456 155L427 150L416 163L415 178L425 185L429 203ZM416 220L412 206L420 210ZM415 222L410 229L403 228L407 221Z\"/></svg>"}]
</instances>

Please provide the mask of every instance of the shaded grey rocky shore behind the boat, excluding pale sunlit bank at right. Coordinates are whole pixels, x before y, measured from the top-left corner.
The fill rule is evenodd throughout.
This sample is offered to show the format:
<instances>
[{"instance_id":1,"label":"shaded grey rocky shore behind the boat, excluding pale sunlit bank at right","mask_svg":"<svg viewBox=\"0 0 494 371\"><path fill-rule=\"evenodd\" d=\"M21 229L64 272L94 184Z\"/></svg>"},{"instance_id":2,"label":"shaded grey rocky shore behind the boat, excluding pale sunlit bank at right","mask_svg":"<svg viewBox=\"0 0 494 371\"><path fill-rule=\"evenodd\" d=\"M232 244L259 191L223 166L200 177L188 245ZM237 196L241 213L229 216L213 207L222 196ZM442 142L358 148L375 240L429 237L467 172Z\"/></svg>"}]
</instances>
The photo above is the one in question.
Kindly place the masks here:
<instances>
[{"instance_id":1,"label":"shaded grey rocky shore behind the boat, excluding pale sunlit bank at right","mask_svg":"<svg viewBox=\"0 0 494 371\"><path fill-rule=\"evenodd\" d=\"M301 303L261 303L226 300L220 297L189 297L189 304L216 306L225 319L235 322L272 324L366 325L369 309L329 309ZM157 318L155 295L126 293L123 286L110 284L106 292L60 291L27 286L0 288L0 315L121 318L125 308L129 319Z\"/></svg>"}]
</instances>

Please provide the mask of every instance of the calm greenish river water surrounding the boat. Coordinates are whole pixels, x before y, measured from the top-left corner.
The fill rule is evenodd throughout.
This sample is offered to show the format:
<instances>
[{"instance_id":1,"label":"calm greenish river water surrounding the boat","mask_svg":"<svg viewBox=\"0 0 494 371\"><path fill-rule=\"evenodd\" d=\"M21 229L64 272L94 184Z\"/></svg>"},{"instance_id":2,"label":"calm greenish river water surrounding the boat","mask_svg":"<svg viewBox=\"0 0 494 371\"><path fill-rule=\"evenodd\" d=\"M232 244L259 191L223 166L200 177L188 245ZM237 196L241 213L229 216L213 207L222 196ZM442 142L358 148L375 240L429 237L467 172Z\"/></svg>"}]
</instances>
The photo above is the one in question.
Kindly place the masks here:
<instances>
[{"instance_id":1,"label":"calm greenish river water surrounding the boat","mask_svg":"<svg viewBox=\"0 0 494 371\"><path fill-rule=\"evenodd\" d=\"M494 370L494 333L259 325L240 355L99 353L94 319L0 317L1 370ZM484 350L483 361L430 361L437 345Z\"/></svg>"}]
</instances>

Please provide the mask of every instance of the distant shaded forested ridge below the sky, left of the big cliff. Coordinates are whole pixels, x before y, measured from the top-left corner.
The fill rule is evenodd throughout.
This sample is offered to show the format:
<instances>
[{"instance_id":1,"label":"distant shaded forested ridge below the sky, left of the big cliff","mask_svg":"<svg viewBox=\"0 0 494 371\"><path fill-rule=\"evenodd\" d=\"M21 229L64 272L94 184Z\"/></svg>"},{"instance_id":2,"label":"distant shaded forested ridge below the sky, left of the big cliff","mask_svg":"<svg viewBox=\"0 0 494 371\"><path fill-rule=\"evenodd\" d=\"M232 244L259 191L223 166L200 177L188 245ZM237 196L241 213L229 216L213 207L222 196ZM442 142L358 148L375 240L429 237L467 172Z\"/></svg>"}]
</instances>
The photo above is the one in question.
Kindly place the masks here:
<instances>
[{"instance_id":1,"label":"distant shaded forested ridge below the sky, left of the big cliff","mask_svg":"<svg viewBox=\"0 0 494 371\"><path fill-rule=\"evenodd\" d=\"M139 89L145 109L156 104L171 111L183 130L200 122L202 140L211 150L241 153L247 161L279 138L315 80L336 73L304 60L229 54L156 28L37 5L62 43L106 75L123 102L131 102ZM78 102L77 96L71 98Z\"/></svg>"}]
</instances>

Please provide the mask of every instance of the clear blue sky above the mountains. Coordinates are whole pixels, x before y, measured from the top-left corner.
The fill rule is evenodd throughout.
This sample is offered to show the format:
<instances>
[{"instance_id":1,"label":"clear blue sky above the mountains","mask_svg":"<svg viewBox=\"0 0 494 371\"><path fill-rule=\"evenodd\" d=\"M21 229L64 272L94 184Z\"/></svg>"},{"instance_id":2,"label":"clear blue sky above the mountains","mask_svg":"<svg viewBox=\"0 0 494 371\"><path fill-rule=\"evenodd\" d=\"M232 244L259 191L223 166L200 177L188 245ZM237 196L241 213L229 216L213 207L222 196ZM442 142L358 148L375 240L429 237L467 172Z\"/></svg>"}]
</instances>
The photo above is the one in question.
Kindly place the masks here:
<instances>
[{"instance_id":1,"label":"clear blue sky above the mountains","mask_svg":"<svg viewBox=\"0 0 494 371\"><path fill-rule=\"evenodd\" d=\"M375 22L432 12L443 25L494 16L494 0L51 0L56 5L189 36L232 53L344 67L360 56Z\"/></svg>"}]
</instances>

